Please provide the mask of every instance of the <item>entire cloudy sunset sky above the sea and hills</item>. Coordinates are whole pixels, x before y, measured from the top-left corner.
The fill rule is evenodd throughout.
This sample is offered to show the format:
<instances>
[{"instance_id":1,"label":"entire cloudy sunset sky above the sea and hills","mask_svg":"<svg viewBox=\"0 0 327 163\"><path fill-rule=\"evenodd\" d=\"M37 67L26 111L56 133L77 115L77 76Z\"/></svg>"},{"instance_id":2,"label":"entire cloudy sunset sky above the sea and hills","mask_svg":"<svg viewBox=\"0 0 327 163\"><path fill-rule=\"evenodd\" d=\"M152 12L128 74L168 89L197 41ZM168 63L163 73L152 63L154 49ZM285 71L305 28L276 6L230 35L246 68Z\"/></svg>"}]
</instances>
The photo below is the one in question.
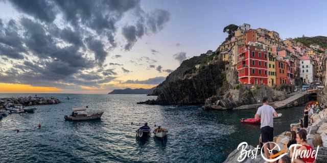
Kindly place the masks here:
<instances>
[{"instance_id":1,"label":"entire cloudy sunset sky above the sea and hills","mask_svg":"<svg viewBox=\"0 0 327 163\"><path fill-rule=\"evenodd\" d=\"M327 1L0 1L0 93L152 88L228 24L327 36Z\"/></svg>"}]
</instances>

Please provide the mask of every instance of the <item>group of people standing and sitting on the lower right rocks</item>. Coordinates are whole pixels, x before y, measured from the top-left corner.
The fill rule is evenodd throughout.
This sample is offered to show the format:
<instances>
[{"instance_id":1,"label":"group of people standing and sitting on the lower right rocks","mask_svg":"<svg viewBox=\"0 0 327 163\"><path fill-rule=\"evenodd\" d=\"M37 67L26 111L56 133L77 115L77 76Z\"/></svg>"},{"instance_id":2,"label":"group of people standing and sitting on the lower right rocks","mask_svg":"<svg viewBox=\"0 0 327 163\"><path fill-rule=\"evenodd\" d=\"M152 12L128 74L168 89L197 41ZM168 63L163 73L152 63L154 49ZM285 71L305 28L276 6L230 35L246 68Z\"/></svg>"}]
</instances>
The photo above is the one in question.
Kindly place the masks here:
<instances>
[{"instance_id":1,"label":"group of people standing and sitting on the lower right rocks","mask_svg":"<svg viewBox=\"0 0 327 163\"><path fill-rule=\"evenodd\" d=\"M268 105L268 98L264 97L262 100L263 105L261 107L258 108L258 111L256 112L254 118L256 120L259 120L259 118L261 118L261 143L267 145L264 148L264 153L265 153L265 157L266 158L271 158L272 156L274 156L276 153L281 153L281 151L277 151L277 150L273 150L275 149L275 145L273 143L268 143L268 142L273 142L273 118L277 117L278 114L277 112L274 110L274 108L270 105ZM318 105L318 103L316 103ZM314 105L315 107L317 107L316 105ZM317 110L319 112L319 108L316 108L316 110L314 109L314 106L309 105L308 107L305 109L305 116L306 116L306 112L307 112L307 116L309 119L309 112L310 113L316 113ZM312 111L310 111L312 110ZM311 114L311 115L312 115ZM303 120L303 124L302 124L302 129L300 129L298 132L295 131L291 131L291 140L288 142L287 147L289 148L292 144L298 144L300 146L297 146L297 148L295 149L296 153L300 153L302 151L308 151L307 153L309 153L308 157L302 157L302 156L295 156L294 155L294 149L291 149L290 151L290 155L284 155L282 158L278 159L277 161L275 161L276 163L290 163L291 162L291 158L294 155L294 162L298 163L298 162L304 162L304 163L311 163L314 162L315 157L311 155L311 152L313 151L313 148L307 144L307 130L305 129L306 127L308 127L308 124L306 124L305 126L305 122L306 120ZM308 123L308 121L307 121ZM285 145L286 146L286 145ZM283 148L283 147L281 147ZM285 147L284 147L285 148ZM294 148L294 147L292 147ZM281 153L282 154L282 153ZM275 156L277 157L277 156Z\"/></svg>"}]
</instances>

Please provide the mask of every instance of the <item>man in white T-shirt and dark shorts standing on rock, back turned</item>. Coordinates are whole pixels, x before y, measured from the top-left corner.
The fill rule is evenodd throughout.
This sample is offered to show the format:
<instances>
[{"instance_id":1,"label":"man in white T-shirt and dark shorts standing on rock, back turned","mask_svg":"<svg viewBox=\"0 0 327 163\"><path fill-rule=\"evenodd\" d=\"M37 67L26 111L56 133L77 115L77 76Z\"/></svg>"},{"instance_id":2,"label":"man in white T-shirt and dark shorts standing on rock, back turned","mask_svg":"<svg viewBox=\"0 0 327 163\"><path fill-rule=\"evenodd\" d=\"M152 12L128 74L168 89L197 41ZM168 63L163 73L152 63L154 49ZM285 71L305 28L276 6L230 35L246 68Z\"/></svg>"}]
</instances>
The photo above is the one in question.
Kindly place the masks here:
<instances>
[{"instance_id":1,"label":"man in white T-shirt and dark shorts standing on rock, back turned","mask_svg":"<svg viewBox=\"0 0 327 163\"><path fill-rule=\"evenodd\" d=\"M261 139L262 143L272 142L273 141L273 131L274 131L274 117L278 117L275 109L268 105L268 97L264 97L262 99L263 105L258 108L256 114L254 115L255 120L259 120L261 118ZM269 158L268 150L272 150L274 148L273 143L269 143L269 147L266 145L264 147L265 157Z\"/></svg>"}]
</instances>

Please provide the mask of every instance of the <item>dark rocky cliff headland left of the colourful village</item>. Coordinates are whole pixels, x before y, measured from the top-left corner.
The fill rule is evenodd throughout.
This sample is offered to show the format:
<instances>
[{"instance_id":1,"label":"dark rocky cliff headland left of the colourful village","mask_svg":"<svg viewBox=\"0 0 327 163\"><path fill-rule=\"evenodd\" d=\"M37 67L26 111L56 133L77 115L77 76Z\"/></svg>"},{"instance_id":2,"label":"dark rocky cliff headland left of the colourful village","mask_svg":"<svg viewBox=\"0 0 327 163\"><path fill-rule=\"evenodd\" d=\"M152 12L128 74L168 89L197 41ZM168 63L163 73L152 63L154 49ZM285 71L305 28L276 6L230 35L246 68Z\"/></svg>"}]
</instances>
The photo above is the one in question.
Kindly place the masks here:
<instances>
[{"instance_id":1,"label":"dark rocky cliff headland left of the colourful village","mask_svg":"<svg viewBox=\"0 0 327 163\"><path fill-rule=\"evenodd\" d=\"M201 55L183 61L180 67L153 91L153 95L158 96L156 100L139 103L203 104L206 98L220 91L226 80L223 72L225 63L213 58L215 56Z\"/></svg>"}]
</instances>

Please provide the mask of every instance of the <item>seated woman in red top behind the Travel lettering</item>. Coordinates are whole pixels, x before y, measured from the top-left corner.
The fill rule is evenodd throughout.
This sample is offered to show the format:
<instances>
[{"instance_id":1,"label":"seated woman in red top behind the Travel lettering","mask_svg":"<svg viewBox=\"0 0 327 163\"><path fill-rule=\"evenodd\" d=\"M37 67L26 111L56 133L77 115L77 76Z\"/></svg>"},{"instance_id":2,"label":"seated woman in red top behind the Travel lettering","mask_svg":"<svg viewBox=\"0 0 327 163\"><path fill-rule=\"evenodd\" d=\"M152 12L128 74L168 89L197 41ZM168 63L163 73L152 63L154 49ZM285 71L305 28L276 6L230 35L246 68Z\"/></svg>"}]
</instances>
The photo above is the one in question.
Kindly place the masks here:
<instances>
[{"instance_id":1,"label":"seated woman in red top behind the Travel lettering","mask_svg":"<svg viewBox=\"0 0 327 163\"><path fill-rule=\"evenodd\" d=\"M300 130L296 134L296 144L301 145L297 147L292 147L290 149L291 158L294 157L295 163L311 163L315 161L315 155L312 155L313 148L307 143L307 131L306 130ZM294 149L295 153L294 153ZM305 156L302 156L298 153L305 153Z\"/></svg>"}]
</instances>

